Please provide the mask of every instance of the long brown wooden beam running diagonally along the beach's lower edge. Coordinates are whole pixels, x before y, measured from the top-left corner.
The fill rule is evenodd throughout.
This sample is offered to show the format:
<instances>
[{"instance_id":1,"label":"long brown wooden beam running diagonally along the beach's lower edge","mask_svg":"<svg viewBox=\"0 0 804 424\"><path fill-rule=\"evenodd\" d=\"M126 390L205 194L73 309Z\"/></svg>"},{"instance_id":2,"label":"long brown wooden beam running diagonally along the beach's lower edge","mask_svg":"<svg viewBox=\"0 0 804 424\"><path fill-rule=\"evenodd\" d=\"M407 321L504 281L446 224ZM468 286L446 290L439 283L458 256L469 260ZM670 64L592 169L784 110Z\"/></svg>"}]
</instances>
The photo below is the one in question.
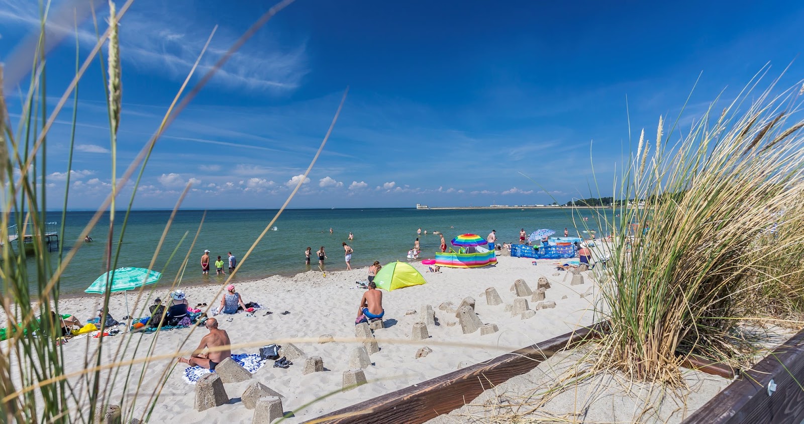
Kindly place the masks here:
<instances>
[{"instance_id":1,"label":"long brown wooden beam running diagonally along the beach's lower edge","mask_svg":"<svg viewBox=\"0 0 804 424\"><path fill-rule=\"evenodd\" d=\"M448 414L466 402L471 402L493 385L527 373L555 353L572 348L581 340L597 336L601 328L603 324L596 324L593 330L582 328L576 332L568 332L513 353L495 357L486 363L458 369L414 386L334 411L307 423L425 422L438 415Z\"/></svg>"}]
</instances>

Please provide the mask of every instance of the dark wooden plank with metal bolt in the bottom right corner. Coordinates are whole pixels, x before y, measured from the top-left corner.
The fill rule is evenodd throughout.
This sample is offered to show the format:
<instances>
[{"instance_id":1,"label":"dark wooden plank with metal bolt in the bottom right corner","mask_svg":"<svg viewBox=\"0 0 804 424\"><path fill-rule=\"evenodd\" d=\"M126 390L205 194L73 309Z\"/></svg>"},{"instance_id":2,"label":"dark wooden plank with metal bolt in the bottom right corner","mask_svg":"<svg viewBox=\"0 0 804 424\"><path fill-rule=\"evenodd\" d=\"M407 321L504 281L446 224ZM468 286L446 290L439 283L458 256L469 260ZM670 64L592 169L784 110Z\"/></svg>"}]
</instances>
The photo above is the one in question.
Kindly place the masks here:
<instances>
[{"instance_id":1,"label":"dark wooden plank with metal bolt in the bottom right corner","mask_svg":"<svg viewBox=\"0 0 804 424\"><path fill-rule=\"evenodd\" d=\"M776 392L768 395L773 380ZM773 350L684 424L798 424L804 419L804 331Z\"/></svg>"}]
</instances>

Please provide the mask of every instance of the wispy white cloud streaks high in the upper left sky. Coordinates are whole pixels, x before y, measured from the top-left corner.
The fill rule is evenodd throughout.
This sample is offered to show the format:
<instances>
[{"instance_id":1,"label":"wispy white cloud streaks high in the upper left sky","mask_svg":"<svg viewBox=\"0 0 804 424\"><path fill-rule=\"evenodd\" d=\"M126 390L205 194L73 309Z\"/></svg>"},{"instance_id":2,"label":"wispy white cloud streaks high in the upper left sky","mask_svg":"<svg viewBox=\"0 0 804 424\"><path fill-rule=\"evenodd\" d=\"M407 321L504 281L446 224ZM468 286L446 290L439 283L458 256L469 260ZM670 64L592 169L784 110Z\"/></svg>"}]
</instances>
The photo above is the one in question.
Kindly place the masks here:
<instances>
[{"instance_id":1,"label":"wispy white cloud streaks high in the upper left sky","mask_svg":"<svg viewBox=\"0 0 804 424\"><path fill-rule=\"evenodd\" d=\"M62 3L62 2L55 2ZM204 22L198 15L188 19L186 10L193 3L176 1L164 3L163 7L133 6L121 19L120 43L121 59L138 69L146 69L158 75L166 75L181 80L190 71L198 57L203 43L212 31L214 24ZM223 6L223 4L221 4ZM39 6L36 2L0 0L0 22L3 27L15 25L29 31L39 27ZM57 8L51 8L58 10ZM68 12L69 10L64 10ZM215 10L209 10L215 16ZM105 18L99 16L100 22ZM48 29L58 34L73 35L72 13L69 19L51 17ZM68 23L64 23L68 22ZM209 70L215 61L240 36L239 28L219 27L215 33L207 55L199 64L199 74ZM290 92L299 86L307 69L306 43L281 45L260 31L244 47L237 51L220 69L213 83L226 88L246 88L260 92ZM97 42L92 22L84 22L78 28L78 38L84 47L93 47Z\"/></svg>"}]
</instances>

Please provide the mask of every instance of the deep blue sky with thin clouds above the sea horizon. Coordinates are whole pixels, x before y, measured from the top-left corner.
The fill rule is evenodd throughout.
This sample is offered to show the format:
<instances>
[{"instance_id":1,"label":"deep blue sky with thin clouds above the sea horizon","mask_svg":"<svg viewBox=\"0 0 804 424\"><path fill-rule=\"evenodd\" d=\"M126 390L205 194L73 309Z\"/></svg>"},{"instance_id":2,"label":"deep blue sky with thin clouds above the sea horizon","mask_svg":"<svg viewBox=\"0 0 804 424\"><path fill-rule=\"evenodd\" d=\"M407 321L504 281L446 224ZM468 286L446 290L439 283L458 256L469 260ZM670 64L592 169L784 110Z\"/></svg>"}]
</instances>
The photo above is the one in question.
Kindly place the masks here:
<instances>
[{"instance_id":1,"label":"deep blue sky with thin clouds above the sea horizon","mask_svg":"<svg viewBox=\"0 0 804 424\"><path fill-rule=\"evenodd\" d=\"M3 62L35 31L37 3L0 0ZM120 30L118 169L154 133L212 28L203 69L268 7L133 3ZM780 86L796 84L802 27L800 2L299 0L158 141L135 207L170 208L187 182L185 207L280 206L347 85L330 141L291 207L564 203L597 196L591 161L608 196L629 138L641 128L654 134L660 115L675 119L699 74L681 128L721 91L736 96L766 63L766 84L790 63ZM71 37L48 56L51 104L72 79ZM82 59L94 37L91 19L83 22ZM6 96L18 119L20 87ZM71 114L64 108L48 139L51 205L64 193ZM84 209L102 202L111 177L97 64L80 85L78 121L70 207Z\"/></svg>"}]
</instances>

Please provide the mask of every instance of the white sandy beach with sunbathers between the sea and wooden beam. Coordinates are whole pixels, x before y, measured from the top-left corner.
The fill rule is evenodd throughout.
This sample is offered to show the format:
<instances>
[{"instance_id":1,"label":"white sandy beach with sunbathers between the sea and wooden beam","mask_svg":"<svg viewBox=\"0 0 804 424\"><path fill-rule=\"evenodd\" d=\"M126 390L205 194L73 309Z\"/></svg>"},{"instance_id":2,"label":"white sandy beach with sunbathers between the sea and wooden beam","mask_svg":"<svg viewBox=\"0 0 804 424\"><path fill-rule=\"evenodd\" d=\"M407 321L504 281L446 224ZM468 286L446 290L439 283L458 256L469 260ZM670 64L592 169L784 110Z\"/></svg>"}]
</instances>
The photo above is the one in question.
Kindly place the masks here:
<instances>
[{"instance_id":1,"label":"white sandy beach with sunbathers between the sea and wooden beam","mask_svg":"<svg viewBox=\"0 0 804 424\"><path fill-rule=\"evenodd\" d=\"M240 312L231 316L231 320L227 319L229 316L217 318L219 328L228 332L232 344L252 344L250 347L232 349L233 354L258 353L262 344L273 341L285 344L286 340L298 339L293 340L293 344L307 356L322 357L325 367L323 372L302 375L302 360L294 361L289 369L273 368L273 361L268 361L252 377L252 381L259 381L284 396L285 411L293 411L295 415L289 422L302 422L452 372L461 366L486 361L512 349L558 336L578 326L592 324L593 312L589 308L593 296L580 296L593 287L594 282L590 278L592 272L583 273L584 284L570 286L569 272L556 271L554 263L558 260L542 259L535 265L532 262L533 259L503 256L498 258L496 267L441 268L441 273L427 273L426 266L413 263L425 276L427 283L384 292L384 319L387 328L375 330L380 351L371 355L372 365L365 369L368 384L343 393L340 392L343 372L349 369L351 349L360 344L338 341L318 344L318 336L331 334L336 339L355 336L355 316L363 294L363 289L355 282L366 280L366 269L328 271L326 277L321 271L309 271L293 278L271 277L238 283L236 290L246 302L263 304L273 314L265 316L264 309L257 311L253 317ZM546 297L547 300L556 302L556 308L536 311L535 316L526 320L506 312L506 304L512 304L515 299L515 293L510 291L514 281L524 279L535 291L540 276L546 277L552 285ZM498 291L503 304L486 304L487 287L494 287ZM215 299L218 290L219 286L184 288L191 305L219 304L220 298ZM157 291L155 295L167 299L168 293ZM457 306L467 296L477 300L476 312L480 320L484 324L497 324L498 332L486 336L481 336L480 331L465 335L461 332L454 313L437 308L442 302L448 301ZM133 304L135 297L129 293L129 304ZM96 316L101 300L101 296L62 300L59 310L72 313L85 322ZM527 300L533 309L530 297ZM405 312L411 309L419 311L425 304L433 306L437 324L428 328L428 340L412 341L412 326L416 323L417 315L405 315ZM112 296L110 310L116 318L125 315L123 296ZM280 312L284 311L290 313L281 315ZM171 355L177 349L195 349L206 332L206 328L183 328L150 334L121 333L105 340L102 357L104 361L112 361L117 345L125 352L121 353L118 360L142 357L146 344L152 342L156 344L152 356ZM184 343L188 336L189 340ZM68 373L80 372L84 368L87 349L95 349L96 342L96 339L83 337L64 344L65 357L75 360L68 362ZM139 353L133 355L137 343L142 345ZM427 357L416 359L416 351L421 346L428 346L433 352ZM125 397L125 402L122 402L125 405L124 410L133 406L134 416L140 418L146 412L148 399L157 381L164 373L169 372L170 377L159 394L158 406L149 422L162 421L169 417L180 422L250 422L253 410L247 410L243 402L240 402L240 395L249 381L226 384L230 403L198 412L193 409L195 385L190 385L183 379L186 368L187 365L176 364L173 359L159 359L145 366L134 365L131 377L142 377L139 393L136 396L133 394L131 383L129 385L132 387L126 393L121 393L124 376L120 375L107 402L120 405L121 397ZM142 369L144 371L141 376ZM72 378L72 381L78 384L79 379ZM84 388L79 385L79 389ZM333 392L332 396L305 406L316 398Z\"/></svg>"}]
</instances>

